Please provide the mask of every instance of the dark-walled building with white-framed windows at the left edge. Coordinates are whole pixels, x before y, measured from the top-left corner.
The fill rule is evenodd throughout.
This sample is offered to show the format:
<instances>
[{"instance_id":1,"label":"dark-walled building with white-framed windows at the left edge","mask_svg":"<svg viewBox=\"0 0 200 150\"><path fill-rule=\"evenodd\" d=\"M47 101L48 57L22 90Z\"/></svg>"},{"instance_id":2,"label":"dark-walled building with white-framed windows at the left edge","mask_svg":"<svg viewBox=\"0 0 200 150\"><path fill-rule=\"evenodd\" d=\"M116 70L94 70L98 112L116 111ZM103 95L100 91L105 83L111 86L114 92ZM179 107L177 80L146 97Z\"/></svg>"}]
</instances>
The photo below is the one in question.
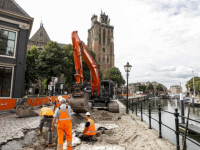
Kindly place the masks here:
<instances>
[{"instance_id":1,"label":"dark-walled building with white-framed windows at the left edge","mask_svg":"<svg viewBox=\"0 0 200 150\"><path fill-rule=\"evenodd\" d=\"M24 95L27 42L33 18L14 0L0 0L0 98Z\"/></svg>"}]
</instances>

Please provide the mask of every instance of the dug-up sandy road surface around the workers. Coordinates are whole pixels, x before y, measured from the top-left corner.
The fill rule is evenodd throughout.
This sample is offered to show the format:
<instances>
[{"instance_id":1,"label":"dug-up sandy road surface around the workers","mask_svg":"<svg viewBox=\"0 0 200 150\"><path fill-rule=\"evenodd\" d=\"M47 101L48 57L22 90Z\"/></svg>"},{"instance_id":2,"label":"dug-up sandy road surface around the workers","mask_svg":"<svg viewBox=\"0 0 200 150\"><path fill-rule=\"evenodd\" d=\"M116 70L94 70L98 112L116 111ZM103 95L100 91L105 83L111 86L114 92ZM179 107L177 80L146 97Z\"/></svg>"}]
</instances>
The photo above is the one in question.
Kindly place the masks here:
<instances>
[{"instance_id":1,"label":"dug-up sandy road surface around the workers","mask_svg":"<svg viewBox=\"0 0 200 150\"><path fill-rule=\"evenodd\" d=\"M96 129L105 127L108 130L98 131L97 141L81 142L73 134L73 150L175 150L176 147L169 140L158 138L158 132L148 129L148 124L141 122L138 117L125 113L125 107L120 103L120 113L110 113L105 110L93 110L91 118L95 122ZM86 122L84 114L73 114L73 131L82 131ZM31 123L31 122L30 122ZM39 120L38 120L39 124ZM16 150L53 150L56 148L45 147L47 141L47 128L44 128L44 135L38 135L38 129L25 133L20 140L13 140L2 146ZM56 142L56 132L53 133ZM25 143L25 144L24 144ZM21 146L21 148L19 147ZM66 148L65 146L63 148Z\"/></svg>"}]
</instances>

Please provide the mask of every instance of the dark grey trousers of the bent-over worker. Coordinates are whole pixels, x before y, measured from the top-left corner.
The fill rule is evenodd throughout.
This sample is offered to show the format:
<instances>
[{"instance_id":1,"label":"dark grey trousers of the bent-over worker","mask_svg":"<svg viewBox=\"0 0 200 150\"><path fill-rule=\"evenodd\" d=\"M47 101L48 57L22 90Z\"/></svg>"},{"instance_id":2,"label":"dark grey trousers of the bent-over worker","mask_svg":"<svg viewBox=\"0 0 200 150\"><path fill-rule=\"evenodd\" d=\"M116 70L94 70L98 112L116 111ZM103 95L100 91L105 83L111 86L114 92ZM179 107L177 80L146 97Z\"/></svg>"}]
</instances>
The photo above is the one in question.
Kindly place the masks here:
<instances>
[{"instance_id":1,"label":"dark grey trousers of the bent-over worker","mask_svg":"<svg viewBox=\"0 0 200 150\"><path fill-rule=\"evenodd\" d=\"M52 144L52 132L51 132L52 121L53 121L53 118L46 118L43 116L42 119L40 120L40 125L39 125L39 129L42 130L44 123L47 122L48 128L49 128L49 131L48 131L49 144Z\"/></svg>"}]
</instances>

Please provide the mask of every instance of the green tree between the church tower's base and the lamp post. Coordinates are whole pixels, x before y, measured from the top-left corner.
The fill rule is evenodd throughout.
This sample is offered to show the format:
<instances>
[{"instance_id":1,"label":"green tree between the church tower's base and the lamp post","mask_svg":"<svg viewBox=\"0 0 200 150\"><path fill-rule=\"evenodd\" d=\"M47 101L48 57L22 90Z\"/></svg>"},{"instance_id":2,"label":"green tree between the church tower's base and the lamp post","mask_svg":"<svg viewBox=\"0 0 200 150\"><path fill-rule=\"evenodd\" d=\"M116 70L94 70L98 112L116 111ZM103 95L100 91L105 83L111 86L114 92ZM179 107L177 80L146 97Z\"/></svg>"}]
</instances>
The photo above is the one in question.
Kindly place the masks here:
<instances>
[{"instance_id":1,"label":"green tree between the church tower's base and the lamp post","mask_svg":"<svg viewBox=\"0 0 200 150\"><path fill-rule=\"evenodd\" d=\"M118 85L118 87L125 84L125 80L123 79L121 72L117 67L108 69L105 74L105 79L112 80Z\"/></svg>"}]
</instances>

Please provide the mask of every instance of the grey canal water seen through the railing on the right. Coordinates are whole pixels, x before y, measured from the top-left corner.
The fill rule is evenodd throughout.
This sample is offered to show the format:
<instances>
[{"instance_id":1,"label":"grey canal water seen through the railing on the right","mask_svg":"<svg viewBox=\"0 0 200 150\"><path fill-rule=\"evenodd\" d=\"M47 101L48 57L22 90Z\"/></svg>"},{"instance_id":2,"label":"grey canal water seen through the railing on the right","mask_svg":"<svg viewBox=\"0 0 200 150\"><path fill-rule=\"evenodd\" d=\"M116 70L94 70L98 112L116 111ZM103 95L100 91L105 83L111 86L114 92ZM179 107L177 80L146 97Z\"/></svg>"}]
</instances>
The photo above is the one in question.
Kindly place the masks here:
<instances>
[{"instance_id":1,"label":"grey canal water seen through the railing on the right","mask_svg":"<svg viewBox=\"0 0 200 150\"><path fill-rule=\"evenodd\" d=\"M160 99L160 100L149 100L149 101L145 101L143 103L143 112L145 114L148 114L148 103L151 102L151 107L152 107L152 117L155 118L156 120L158 120L158 105L161 105L161 108L174 113L175 112L175 108L178 108L178 112L180 113L180 102L175 102L173 100L167 100L167 99ZM140 116L140 107L138 109L138 115ZM185 105L185 116L187 116L188 114L188 105ZM167 112L161 112L161 118L162 118L162 123L171 127L172 129L175 130L175 116L173 114L169 114ZM197 121L200 121L200 107L190 107L190 118L195 119ZM146 121L147 123L149 123L149 118L143 114L143 120ZM159 126L158 126L158 122L154 121L153 119L151 119L152 122L152 128L155 128L157 131L159 130ZM186 122L186 120L185 120ZM181 118L179 118L179 123L181 123ZM189 121L189 124L194 124L196 126L200 127L199 123L193 122L193 121ZM162 136L166 137L167 139L169 139L171 142L173 142L174 144L176 144L176 135L174 133L174 131L168 129L167 127L162 125ZM190 135L189 137L195 141L198 142L200 144L200 136L196 136L196 135ZM180 146L182 148L182 141L183 138L182 136L179 136L179 143ZM192 142L188 141L186 142L187 145L187 150L197 150L200 149L199 146L197 146L196 144L193 144Z\"/></svg>"}]
</instances>

